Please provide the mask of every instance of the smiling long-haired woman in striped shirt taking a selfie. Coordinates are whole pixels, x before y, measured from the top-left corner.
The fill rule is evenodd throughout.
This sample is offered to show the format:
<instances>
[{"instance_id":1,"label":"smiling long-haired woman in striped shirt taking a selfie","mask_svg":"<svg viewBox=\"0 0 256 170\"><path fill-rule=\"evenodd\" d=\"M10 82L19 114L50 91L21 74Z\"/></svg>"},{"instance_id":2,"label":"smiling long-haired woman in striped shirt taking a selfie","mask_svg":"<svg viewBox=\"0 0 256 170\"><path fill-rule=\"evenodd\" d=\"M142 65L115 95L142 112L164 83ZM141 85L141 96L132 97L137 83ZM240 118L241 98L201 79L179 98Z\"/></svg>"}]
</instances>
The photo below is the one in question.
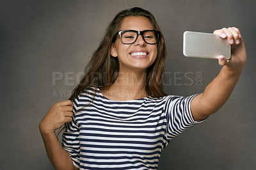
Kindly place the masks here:
<instances>
[{"instance_id":1,"label":"smiling long-haired woman in striped shirt taking a selfie","mask_svg":"<svg viewBox=\"0 0 256 170\"><path fill-rule=\"evenodd\" d=\"M170 140L218 111L246 63L239 29L214 33L232 44L232 56L204 93L163 92L165 45L154 16L141 8L116 15L70 100L54 104L40 123L56 169L157 169ZM63 144L55 130L66 123Z\"/></svg>"}]
</instances>

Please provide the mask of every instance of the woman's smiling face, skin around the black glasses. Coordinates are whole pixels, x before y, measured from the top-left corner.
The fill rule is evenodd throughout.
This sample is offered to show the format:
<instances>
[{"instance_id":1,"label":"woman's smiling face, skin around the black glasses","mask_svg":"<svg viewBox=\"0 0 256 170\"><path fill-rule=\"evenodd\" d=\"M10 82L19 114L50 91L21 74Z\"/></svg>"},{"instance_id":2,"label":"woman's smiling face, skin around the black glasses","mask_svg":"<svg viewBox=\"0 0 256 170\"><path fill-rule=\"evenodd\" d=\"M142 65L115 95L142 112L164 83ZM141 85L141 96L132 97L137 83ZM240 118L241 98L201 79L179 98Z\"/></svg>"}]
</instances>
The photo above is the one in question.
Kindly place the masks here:
<instances>
[{"instance_id":1,"label":"woman's smiling face, skin around the black glasses","mask_svg":"<svg viewBox=\"0 0 256 170\"><path fill-rule=\"evenodd\" d=\"M120 30L132 29L136 31L152 30L153 26L146 17L125 17L120 26ZM111 55L118 57L119 72L129 72L135 70L147 70L157 57L157 44L144 42L141 35L136 42L124 44L120 37L116 39L111 47Z\"/></svg>"}]
</instances>

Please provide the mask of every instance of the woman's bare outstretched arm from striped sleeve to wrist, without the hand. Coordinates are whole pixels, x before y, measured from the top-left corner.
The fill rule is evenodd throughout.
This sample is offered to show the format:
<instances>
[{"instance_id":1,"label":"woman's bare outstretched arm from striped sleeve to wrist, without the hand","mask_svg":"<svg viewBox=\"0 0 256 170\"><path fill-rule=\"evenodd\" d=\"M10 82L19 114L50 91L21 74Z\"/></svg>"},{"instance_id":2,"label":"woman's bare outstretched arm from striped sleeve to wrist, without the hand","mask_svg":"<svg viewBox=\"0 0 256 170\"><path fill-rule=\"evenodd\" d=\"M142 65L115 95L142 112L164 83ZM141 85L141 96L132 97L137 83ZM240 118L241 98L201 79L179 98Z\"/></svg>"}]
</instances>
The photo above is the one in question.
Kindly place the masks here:
<instances>
[{"instance_id":1,"label":"woman's bare outstretched arm from striped sleeve to wrist, without the hand","mask_svg":"<svg viewBox=\"0 0 256 170\"><path fill-rule=\"evenodd\" d=\"M227 102L240 74L241 70L230 70L223 66L219 75L205 88L204 93L192 100L191 111L195 120L204 120Z\"/></svg>"}]
</instances>

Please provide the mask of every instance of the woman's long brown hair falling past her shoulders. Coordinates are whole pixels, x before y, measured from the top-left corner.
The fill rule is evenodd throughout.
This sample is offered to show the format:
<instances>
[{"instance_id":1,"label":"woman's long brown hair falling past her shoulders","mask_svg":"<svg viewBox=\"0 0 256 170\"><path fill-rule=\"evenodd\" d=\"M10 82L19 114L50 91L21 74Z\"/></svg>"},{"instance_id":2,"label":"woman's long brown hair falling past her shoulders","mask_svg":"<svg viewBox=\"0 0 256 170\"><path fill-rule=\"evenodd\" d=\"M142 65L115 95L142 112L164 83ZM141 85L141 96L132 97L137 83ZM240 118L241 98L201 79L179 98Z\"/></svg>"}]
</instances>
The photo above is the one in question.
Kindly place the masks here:
<instances>
[{"instance_id":1,"label":"woman's long brown hair falling past her shoulders","mask_svg":"<svg viewBox=\"0 0 256 170\"><path fill-rule=\"evenodd\" d=\"M115 34L120 31L122 20L129 16L143 16L150 20L154 29L161 31L156 19L152 13L142 8L134 7L119 12L110 22L104 38L100 42L99 47L93 53L92 59L84 69L84 76L80 83L72 91L69 100L74 100L82 91L89 87L100 87L106 89L115 82L119 63L118 58L111 56L111 43L115 41ZM157 58L152 65L147 68L146 91L152 97L163 97L166 95L163 91L163 73L164 61L166 58L166 49L163 34L161 33L160 40L157 44Z\"/></svg>"}]
</instances>

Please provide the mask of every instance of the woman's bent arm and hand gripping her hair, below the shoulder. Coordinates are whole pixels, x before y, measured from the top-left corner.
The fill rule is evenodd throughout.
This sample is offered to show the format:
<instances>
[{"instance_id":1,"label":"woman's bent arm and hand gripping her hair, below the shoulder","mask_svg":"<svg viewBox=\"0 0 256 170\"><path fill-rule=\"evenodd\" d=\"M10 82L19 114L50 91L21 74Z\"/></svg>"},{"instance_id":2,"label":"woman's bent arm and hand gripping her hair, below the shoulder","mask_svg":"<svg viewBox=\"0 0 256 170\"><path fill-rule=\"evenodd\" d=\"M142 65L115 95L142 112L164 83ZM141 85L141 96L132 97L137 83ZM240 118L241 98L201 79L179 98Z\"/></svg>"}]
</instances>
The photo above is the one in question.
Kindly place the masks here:
<instances>
[{"instance_id":1,"label":"woman's bent arm and hand gripping her hair, below the shoulder","mask_svg":"<svg viewBox=\"0 0 256 170\"><path fill-rule=\"evenodd\" d=\"M73 107L74 105L70 100L58 102L52 105L39 124L45 150L55 169L74 169L72 159L62 148L55 134L56 129L72 121Z\"/></svg>"}]
</instances>

